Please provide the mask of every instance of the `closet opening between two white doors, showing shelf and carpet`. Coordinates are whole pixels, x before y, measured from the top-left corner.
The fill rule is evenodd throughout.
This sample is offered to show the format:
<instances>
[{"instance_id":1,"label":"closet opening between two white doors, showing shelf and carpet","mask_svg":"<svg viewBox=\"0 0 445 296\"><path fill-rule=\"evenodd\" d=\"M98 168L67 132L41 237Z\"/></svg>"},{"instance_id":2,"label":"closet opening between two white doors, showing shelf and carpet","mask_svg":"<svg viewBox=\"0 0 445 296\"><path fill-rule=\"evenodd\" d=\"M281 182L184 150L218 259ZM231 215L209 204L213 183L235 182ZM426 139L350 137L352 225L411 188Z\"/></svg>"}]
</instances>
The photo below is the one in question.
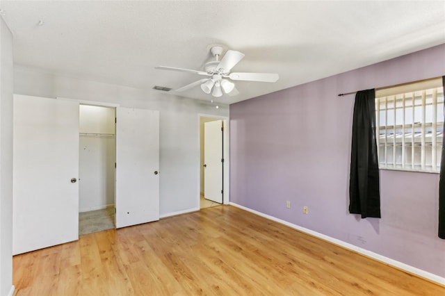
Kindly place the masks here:
<instances>
[{"instance_id":1,"label":"closet opening between two white doors, showing shelf and carpet","mask_svg":"<svg viewBox=\"0 0 445 296\"><path fill-rule=\"evenodd\" d=\"M79 105L79 235L115 228L115 117Z\"/></svg>"}]
</instances>

